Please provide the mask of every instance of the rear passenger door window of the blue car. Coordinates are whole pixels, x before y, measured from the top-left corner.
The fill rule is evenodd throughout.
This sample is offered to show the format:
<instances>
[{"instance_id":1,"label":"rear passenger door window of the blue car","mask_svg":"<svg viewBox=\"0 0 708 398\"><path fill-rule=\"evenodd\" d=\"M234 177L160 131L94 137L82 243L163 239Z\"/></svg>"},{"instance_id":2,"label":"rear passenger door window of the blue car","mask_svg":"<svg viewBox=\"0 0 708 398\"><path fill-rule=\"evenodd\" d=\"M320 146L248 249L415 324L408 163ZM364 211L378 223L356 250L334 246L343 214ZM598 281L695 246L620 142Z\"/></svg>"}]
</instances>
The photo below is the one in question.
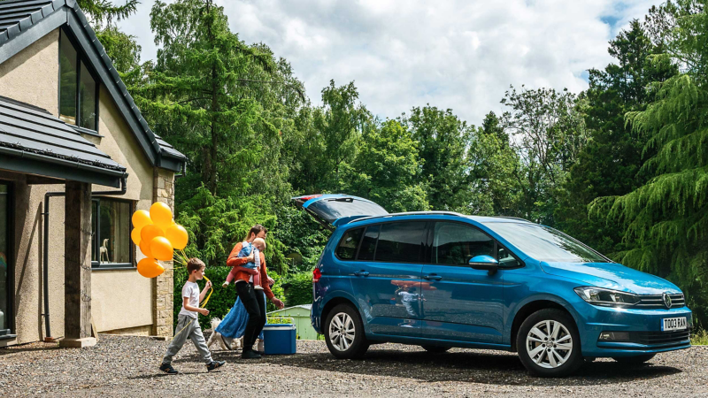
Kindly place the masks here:
<instances>
[{"instance_id":1,"label":"rear passenger door window of the blue car","mask_svg":"<svg viewBox=\"0 0 708 398\"><path fill-rule=\"evenodd\" d=\"M399 222L381 225L379 242L376 245L376 261L418 263L425 247L424 222Z\"/></svg>"}]
</instances>

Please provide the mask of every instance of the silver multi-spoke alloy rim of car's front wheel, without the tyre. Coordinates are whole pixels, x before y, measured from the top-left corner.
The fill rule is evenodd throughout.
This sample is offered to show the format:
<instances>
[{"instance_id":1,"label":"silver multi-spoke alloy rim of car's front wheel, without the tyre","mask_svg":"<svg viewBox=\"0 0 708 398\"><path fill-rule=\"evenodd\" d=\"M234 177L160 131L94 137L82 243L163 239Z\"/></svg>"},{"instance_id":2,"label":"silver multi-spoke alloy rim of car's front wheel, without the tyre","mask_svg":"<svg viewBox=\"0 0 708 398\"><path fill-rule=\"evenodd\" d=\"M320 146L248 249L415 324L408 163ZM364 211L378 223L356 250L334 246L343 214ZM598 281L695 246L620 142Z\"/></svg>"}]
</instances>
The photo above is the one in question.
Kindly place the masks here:
<instances>
[{"instance_id":1,"label":"silver multi-spoke alloy rim of car's front wheel, without the tyre","mask_svg":"<svg viewBox=\"0 0 708 398\"><path fill-rule=\"evenodd\" d=\"M526 350L538 366L555 369L566 364L573 353L573 336L557 320L543 320L528 331Z\"/></svg>"}]
</instances>

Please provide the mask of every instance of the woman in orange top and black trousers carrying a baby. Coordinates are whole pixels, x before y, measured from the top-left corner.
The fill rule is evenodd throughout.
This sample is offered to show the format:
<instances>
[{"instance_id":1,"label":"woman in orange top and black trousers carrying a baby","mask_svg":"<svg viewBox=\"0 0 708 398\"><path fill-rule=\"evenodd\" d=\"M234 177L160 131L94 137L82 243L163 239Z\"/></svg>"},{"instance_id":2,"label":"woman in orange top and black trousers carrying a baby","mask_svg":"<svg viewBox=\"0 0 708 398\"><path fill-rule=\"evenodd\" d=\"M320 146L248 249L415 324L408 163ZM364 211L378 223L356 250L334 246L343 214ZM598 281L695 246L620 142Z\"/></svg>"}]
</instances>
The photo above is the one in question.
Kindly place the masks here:
<instances>
[{"instance_id":1,"label":"woman in orange top and black trousers carrying a baby","mask_svg":"<svg viewBox=\"0 0 708 398\"><path fill-rule=\"evenodd\" d=\"M227 258L227 265L234 269L229 273L224 285L227 286L235 279L236 293L249 315L243 332L243 359L260 358L253 350L253 344L266 325L266 297L276 308L284 307L273 295L269 283L272 279L268 278L266 256L263 254L266 249L266 233L268 231L265 226L257 224L251 227L246 240L236 243ZM227 318L224 321L227 321Z\"/></svg>"}]
</instances>

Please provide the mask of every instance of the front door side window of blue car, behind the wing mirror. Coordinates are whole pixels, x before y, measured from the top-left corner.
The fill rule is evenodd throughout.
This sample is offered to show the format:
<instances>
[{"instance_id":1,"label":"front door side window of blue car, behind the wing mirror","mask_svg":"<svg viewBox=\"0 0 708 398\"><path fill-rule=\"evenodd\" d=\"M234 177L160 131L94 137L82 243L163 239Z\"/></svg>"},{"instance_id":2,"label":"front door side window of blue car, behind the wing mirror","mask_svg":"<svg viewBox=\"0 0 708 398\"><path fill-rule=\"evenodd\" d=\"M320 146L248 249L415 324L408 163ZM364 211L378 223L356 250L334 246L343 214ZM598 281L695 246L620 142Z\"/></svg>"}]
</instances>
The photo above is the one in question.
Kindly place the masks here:
<instances>
[{"instance_id":1,"label":"front door side window of blue car, behind the wing mirror","mask_svg":"<svg viewBox=\"0 0 708 398\"><path fill-rule=\"evenodd\" d=\"M435 223L434 264L466 265L474 256L496 257L494 246L494 240L473 226Z\"/></svg>"}]
</instances>

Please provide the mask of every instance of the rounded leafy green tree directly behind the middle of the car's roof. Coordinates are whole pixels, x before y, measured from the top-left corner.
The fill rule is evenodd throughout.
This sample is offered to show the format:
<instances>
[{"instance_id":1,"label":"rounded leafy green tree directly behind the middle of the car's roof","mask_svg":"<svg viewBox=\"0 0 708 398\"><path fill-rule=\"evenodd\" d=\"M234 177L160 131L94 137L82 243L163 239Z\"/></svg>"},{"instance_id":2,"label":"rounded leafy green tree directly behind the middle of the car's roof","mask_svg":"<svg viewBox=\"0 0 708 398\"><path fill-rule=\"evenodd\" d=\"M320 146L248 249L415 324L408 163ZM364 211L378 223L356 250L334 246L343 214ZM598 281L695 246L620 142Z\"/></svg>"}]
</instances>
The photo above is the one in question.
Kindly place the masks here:
<instances>
[{"instance_id":1,"label":"rounded leafy green tree directly behind the middle of the car's roof","mask_svg":"<svg viewBox=\"0 0 708 398\"><path fill-rule=\"evenodd\" d=\"M430 208L465 211L470 202L465 155L474 127L451 110L430 105L413 108L403 123L419 145L419 178L427 181Z\"/></svg>"}]
</instances>

